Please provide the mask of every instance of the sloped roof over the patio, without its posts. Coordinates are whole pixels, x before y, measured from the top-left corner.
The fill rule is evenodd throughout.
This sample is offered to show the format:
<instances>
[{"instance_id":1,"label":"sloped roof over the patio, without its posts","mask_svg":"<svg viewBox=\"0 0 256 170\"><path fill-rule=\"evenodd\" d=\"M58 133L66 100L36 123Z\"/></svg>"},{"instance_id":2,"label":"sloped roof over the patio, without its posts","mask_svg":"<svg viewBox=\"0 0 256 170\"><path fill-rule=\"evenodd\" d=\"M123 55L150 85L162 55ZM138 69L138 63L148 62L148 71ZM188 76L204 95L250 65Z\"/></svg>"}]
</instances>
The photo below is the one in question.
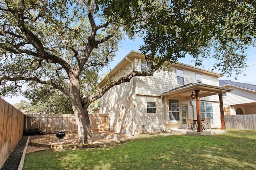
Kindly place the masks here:
<instances>
[{"instance_id":1,"label":"sloped roof over the patio, without its posts","mask_svg":"<svg viewBox=\"0 0 256 170\"><path fill-rule=\"evenodd\" d=\"M187 97L191 99L190 97L190 95L192 94L191 92L194 92L195 90L200 90L200 98L202 98L206 96L212 96L215 94L231 92L233 89L219 87L219 86L212 86L212 85L203 84L203 83L190 83L184 86L174 88L168 92L165 92L162 94L162 96L169 96L169 97L182 96L182 97Z\"/></svg>"}]
</instances>

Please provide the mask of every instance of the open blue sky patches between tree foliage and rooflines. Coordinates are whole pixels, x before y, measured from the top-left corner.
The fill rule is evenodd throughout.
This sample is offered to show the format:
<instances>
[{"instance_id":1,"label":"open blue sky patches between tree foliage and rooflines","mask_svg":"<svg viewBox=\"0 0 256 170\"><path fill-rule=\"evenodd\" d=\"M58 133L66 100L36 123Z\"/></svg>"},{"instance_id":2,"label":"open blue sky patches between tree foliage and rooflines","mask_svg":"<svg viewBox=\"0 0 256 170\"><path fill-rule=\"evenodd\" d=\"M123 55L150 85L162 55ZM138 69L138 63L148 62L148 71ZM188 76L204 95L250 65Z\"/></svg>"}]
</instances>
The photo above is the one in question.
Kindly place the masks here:
<instances>
[{"instance_id":1,"label":"open blue sky patches between tree foliage and rooflines","mask_svg":"<svg viewBox=\"0 0 256 170\"><path fill-rule=\"evenodd\" d=\"M116 57L114 58L114 60L112 62L110 62L108 68L105 68L104 70L102 70L102 73L104 74L105 72L109 71L110 69L113 69L130 51L132 51L132 50L139 51L140 45L142 45L142 44L143 44L143 41L140 38L136 39L135 41L130 40L130 39L126 39L126 40L122 41L121 48L116 53ZM255 69L256 68L256 47L250 47L248 49L247 54L248 54L248 61L246 62L246 64L249 67L246 68L246 70L243 72L243 74L246 74L246 76L244 76L243 74L240 74L237 77L237 80L235 80L235 75L233 75L231 77L224 76L224 77L221 77L220 80L231 80L231 81L235 81L235 82L256 84L256 75L255 75L255 72L256 72L256 69ZM192 60L193 60L192 57L186 57L185 59L180 59L178 62L194 66L194 62L192 62ZM204 66L201 66L200 68L212 70L212 66L214 63L206 60L203 62L203 64L204 64ZM214 70L214 72L218 72L218 70ZM22 96L14 96L12 98L4 98L4 100L9 102L10 104L16 104L16 103L19 103L20 100L24 100L24 98L22 98Z\"/></svg>"}]
</instances>

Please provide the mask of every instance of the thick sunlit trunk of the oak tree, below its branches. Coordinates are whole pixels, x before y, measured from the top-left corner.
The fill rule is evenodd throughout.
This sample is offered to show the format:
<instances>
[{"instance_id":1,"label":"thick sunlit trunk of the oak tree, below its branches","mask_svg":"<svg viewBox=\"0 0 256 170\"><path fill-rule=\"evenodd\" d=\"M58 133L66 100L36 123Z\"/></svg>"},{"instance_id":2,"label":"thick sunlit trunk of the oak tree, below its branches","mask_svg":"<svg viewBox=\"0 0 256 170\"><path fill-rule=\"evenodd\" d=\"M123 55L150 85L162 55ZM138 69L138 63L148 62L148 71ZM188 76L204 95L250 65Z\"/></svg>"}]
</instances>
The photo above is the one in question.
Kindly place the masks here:
<instances>
[{"instance_id":1,"label":"thick sunlit trunk of the oak tree, below its branches","mask_svg":"<svg viewBox=\"0 0 256 170\"><path fill-rule=\"evenodd\" d=\"M78 144L92 143L92 132L87 108L82 107L79 80L70 78L70 100L78 125Z\"/></svg>"}]
</instances>

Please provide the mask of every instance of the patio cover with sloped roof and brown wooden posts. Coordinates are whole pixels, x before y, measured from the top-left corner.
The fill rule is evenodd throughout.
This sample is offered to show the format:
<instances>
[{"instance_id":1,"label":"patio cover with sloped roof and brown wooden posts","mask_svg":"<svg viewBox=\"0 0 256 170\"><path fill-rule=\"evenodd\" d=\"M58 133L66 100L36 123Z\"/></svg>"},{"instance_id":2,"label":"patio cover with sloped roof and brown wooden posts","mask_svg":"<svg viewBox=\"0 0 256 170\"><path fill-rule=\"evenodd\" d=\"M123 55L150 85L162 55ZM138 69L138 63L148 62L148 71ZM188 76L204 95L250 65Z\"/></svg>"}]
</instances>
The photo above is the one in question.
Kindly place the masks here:
<instances>
[{"instance_id":1,"label":"patio cover with sloped roof and brown wooden posts","mask_svg":"<svg viewBox=\"0 0 256 170\"><path fill-rule=\"evenodd\" d=\"M181 96L187 100L195 99L196 100L196 117L197 117L197 132L203 132L202 130L202 119L201 119L201 108L200 108L200 98L212 96L218 94L219 103L220 103L220 120L221 120L221 129L225 130L225 120L224 120L224 110L223 110L223 100L222 93L231 92L230 88L223 88L219 86L212 86L203 83L190 83L178 88L174 88L168 92L162 94L162 96L176 97ZM191 133L193 133L192 131ZM190 133L190 132L189 132ZM208 133L208 132L207 132Z\"/></svg>"}]
</instances>

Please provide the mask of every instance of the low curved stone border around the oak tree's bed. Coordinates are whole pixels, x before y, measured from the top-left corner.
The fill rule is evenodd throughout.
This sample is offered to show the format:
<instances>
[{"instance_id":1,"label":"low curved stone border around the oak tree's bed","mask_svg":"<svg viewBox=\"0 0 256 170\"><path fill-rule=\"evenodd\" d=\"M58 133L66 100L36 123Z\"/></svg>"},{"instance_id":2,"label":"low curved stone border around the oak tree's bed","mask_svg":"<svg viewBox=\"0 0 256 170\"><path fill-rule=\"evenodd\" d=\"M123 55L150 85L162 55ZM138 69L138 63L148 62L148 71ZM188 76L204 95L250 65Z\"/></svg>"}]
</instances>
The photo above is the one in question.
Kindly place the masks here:
<instances>
[{"instance_id":1,"label":"low curved stone border around the oak tree's bed","mask_svg":"<svg viewBox=\"0 0 256 170\"><path fill-rule=\"evenodd\" d=\"M66 134L65 139L72 139L78 137L78 134ZM76 145L76 144L68 144L68 145L49 145L47 143L52 141L58 141L58 138L55 135L34 139L31 141L32 146L36 147L46 147L51 148L52 150L75 150L75 149L86 149L86 148L104 148L104 147L112 147L115 145L119 145L121 143L131 141L132 138L121 135L121 134L92 134L92 137L98 139L116 139L117 141L110 142L102 142L102 143L89 143L84 145Z\"/></svg>"}]
</instances>

